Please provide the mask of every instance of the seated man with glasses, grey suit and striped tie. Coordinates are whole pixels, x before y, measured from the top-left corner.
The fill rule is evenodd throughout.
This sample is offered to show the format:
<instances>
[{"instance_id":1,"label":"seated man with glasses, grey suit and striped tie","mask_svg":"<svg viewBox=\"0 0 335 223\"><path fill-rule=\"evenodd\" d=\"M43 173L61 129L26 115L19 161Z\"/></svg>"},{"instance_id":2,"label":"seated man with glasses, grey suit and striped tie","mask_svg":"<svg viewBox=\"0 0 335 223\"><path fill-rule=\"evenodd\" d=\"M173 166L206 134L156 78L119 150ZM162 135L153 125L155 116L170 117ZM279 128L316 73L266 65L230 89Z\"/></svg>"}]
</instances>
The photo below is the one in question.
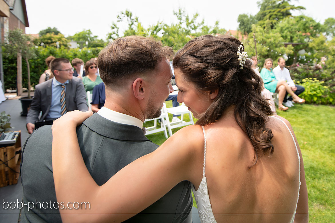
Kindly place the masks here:
<instances>
[{"instance_id":1,"label":"seated man with glasses, grey suit and striped tie","mask_svg":"<svg viewBox=\"0 0 335 223\"><path fill-rule=\"evenodd\" d=\"M27 114L27 130L29 134L35 129L36 121L52 121L67 111L87 111L86 92L82 81L73 77L70 61L56 58L51 62L54 78L36 85L35 95ZM39 119L39 114L42 116Z\"/></svg>"}]
</instances>

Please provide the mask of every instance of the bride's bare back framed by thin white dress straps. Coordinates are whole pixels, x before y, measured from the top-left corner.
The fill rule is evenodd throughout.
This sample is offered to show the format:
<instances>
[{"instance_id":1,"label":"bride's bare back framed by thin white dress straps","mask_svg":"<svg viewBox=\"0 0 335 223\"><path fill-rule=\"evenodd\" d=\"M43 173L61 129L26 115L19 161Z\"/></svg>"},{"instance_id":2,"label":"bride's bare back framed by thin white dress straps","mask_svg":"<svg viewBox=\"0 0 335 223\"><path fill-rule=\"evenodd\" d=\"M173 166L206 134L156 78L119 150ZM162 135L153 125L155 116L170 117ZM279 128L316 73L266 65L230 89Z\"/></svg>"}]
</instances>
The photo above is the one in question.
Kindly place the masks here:
<instances>
[{"instance_id":1,"label":"bride's bare back framed by thin white dress straps","mask_svg":"<svg viewBox=\"0 0 335 223\"><path fill-rule=\"evenodd\" d=\"M270 117L266 127L274 135L274 152L271 157L268 154L258 157L252 166L254 149L232 114L205 126L205 176L217 222L289 222L292 218L299 190L297 152L287 127L280 120ZM202 133L199 126L198 131ZM203 140L197 148L196 190L202 179Z\"/></svg>"}]
</instances>

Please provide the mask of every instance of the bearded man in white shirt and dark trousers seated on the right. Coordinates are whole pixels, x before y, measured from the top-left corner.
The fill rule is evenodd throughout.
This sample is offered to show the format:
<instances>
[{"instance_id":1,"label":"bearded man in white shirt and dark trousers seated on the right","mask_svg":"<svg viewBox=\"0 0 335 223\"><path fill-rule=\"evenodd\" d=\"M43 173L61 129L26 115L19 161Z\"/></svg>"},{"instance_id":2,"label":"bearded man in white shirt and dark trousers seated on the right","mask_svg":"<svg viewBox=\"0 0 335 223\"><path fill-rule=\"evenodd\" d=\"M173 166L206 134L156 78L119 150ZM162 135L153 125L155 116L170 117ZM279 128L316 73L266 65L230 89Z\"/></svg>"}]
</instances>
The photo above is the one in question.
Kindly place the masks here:
<instances>
[{"instance_id":1,"label":"bearded man in white shirt and dark trousers seated on the right","mask_svg":"<svg viewBox=\"0 0 335 223\"><path fill-rule=\"evenodd\" d=\"M285 68L285 60L284 58L280 57L278 59L278 66L273 69L273 73L276 77L276 80L285 80L288 84L288 86L291 87L292 91L296 94L299 95L305 91L305 88L300 85L295 85L294 82L291 79L290 72L287 68ZM292 102L292 96L287 98L287 92L284 97L283 105L286 107L292 107L293 102Z\"/></svg>"}]
</instances>

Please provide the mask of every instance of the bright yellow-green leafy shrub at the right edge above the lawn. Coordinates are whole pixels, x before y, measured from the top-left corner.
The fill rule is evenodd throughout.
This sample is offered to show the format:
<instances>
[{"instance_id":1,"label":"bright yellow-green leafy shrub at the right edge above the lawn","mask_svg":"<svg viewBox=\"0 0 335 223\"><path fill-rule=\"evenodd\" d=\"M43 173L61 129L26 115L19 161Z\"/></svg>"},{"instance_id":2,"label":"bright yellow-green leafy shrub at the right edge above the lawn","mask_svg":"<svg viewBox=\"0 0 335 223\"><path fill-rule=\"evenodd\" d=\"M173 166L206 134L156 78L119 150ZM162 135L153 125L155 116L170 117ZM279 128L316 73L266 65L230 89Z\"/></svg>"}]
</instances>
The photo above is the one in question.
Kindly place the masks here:
<instances>
[{"instance_id":1,"label":"bright yellow-green leafy shrub at the right edge above the lawn","mask_svg":"<svg viewBox=\"0 0 335 223\"><path fill-rule=\"evenodd\" d=\"M305 91L299 97L306 100L306 103L315 104L335 104L335 92L328 86L324 86L324 81L319 81L317 78L305 78L296 82L305 87Z\"/></svg>"}]
</instances>

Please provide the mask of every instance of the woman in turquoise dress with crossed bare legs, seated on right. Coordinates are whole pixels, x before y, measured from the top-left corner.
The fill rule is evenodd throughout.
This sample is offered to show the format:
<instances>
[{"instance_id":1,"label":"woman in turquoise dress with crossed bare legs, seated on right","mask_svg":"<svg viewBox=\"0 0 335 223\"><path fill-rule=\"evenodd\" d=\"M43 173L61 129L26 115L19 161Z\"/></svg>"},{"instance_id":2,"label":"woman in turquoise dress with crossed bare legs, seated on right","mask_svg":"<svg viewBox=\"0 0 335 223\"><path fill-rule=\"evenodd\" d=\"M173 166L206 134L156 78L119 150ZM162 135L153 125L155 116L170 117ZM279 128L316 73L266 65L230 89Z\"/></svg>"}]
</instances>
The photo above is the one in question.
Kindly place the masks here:
<instances>
[{"instance_id":1,"label":"woman in turquoise dress with crossed bare legs, seated on right","mask_svg":"<svg viewBox=\"0 0 335 223\"><path fill-rule=\"evenodd\" d=\"M304 103L305 100L295 95L292 89L287 85L286 81L276 80L274 73L272 72L272 65L273 65L273 60L271 58L268 58L265 60L264 67L261 71L261 78L264 81L264 87L266 89L268 89L272 93L274 92L278 93L279 110L286 111L288 109L288 107L283 106L283 100L284 100L286 91L292 96L294 102L299 103L299 104Z\"/></svg>"}]
</instances>

